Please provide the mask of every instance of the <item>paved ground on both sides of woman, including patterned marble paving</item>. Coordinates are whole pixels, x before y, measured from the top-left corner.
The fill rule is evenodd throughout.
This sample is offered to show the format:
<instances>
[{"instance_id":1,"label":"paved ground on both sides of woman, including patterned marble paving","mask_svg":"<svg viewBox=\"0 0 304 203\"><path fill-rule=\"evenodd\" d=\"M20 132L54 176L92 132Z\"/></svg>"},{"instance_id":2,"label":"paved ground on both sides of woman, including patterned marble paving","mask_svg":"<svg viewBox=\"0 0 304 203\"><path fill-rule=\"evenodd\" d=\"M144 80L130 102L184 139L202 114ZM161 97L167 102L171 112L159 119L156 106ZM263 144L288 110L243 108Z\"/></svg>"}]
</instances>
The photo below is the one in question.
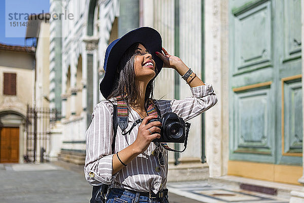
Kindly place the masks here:
<instances>
[{"instance_id":1,"label":"paved ground on both sides of woman, including patterned marble paving","mask_svg":"<svg viewBox=\"0 0 304 203\"><path fill-rule=\"evenodd\" d=\"M83 166L62 161L0 164L0 185L0 203L83 203L89 202L92 190L83 176ZM208 181L172 182L167 187L170 203L288 202Z\"/></svg>"}]
</instances>

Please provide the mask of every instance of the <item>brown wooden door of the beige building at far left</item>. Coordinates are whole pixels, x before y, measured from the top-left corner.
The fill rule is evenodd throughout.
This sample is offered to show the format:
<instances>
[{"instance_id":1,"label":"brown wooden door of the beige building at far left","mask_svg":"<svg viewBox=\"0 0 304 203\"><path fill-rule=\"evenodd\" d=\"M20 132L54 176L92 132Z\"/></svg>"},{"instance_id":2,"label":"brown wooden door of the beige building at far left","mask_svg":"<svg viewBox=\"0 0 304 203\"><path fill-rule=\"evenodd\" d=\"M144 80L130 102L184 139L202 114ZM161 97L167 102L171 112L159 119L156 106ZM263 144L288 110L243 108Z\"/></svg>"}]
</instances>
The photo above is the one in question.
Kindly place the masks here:
<instances>
[{"instance_id":1,"label":"brown wooden door of the beige building at far left","mask_svg":"<svg viewBox=\"0 0 304 203\"><path fill-rule=\"evenodd\" d=\"M0 131L0 162L12 163L19 160L19 128L3 127Z\"/></svg>"}]
</instances>

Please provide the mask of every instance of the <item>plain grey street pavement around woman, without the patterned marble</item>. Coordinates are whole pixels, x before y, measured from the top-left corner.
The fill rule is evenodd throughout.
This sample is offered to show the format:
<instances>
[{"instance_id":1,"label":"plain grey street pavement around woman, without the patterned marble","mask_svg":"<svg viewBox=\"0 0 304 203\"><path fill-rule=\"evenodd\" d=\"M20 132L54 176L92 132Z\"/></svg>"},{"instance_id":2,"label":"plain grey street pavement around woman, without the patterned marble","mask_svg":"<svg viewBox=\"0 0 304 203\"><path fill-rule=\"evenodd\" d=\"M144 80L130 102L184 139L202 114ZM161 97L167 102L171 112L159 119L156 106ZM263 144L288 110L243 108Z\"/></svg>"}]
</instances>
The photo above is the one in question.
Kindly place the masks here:
<instances>
[{"instance_id":1,"label":"plain grey street pavement around woman, without the patterned marble","mask_svg":"<svg viewBox=\"0 0 304 203\"><path fill-rule=\"evenodd\" d=\"M66 162L0 164L0 203L89 202L92 187L83 166ZM170 203L200 203L169 193Z\"/></svg>"}]
</instances>

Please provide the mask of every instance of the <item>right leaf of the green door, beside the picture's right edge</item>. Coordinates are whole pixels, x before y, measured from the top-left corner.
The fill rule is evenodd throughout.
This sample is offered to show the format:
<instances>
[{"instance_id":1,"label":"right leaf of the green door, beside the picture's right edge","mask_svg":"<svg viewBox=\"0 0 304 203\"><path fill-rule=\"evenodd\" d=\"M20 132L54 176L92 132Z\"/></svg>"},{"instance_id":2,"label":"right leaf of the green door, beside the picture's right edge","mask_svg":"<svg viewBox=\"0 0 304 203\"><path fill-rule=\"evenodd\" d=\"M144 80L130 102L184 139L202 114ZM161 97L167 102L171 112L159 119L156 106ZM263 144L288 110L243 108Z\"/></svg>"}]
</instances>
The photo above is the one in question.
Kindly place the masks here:
<instances>
[{"instance_id":1,"label":"right leaf of the green door, beside the picture's right edge","mask_svg":"<svg viewBox=\"0 0 304 203\"><path fill-rule=\"evenodd\" d=\"M277 163L302 164L301 3L276 3ZM282 20L284 19L284 20Z\"/></svg>"}]
</instances>

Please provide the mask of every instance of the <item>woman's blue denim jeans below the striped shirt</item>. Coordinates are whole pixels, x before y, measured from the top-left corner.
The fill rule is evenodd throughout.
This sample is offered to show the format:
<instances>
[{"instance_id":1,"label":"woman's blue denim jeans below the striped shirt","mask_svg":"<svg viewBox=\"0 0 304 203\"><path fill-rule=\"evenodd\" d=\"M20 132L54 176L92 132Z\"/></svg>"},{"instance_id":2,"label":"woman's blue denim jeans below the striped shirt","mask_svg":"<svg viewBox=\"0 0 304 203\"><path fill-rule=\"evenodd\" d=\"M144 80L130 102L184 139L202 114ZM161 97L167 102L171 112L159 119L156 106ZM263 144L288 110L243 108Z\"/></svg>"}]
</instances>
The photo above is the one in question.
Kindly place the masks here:
<instances>
[{"instance_id":1,"label":"woman's blue denim jeans below the striped shirt","mask_svg":"<svg viewBox=\"0 0 304 203\"><path fill-rule=\"evenodd\" d=\"M128 190L110 188L106 197L106 203L169 203L168 195L162 198L149 198L139 193L132 193Z\"/></svg>"}]
</instances>

